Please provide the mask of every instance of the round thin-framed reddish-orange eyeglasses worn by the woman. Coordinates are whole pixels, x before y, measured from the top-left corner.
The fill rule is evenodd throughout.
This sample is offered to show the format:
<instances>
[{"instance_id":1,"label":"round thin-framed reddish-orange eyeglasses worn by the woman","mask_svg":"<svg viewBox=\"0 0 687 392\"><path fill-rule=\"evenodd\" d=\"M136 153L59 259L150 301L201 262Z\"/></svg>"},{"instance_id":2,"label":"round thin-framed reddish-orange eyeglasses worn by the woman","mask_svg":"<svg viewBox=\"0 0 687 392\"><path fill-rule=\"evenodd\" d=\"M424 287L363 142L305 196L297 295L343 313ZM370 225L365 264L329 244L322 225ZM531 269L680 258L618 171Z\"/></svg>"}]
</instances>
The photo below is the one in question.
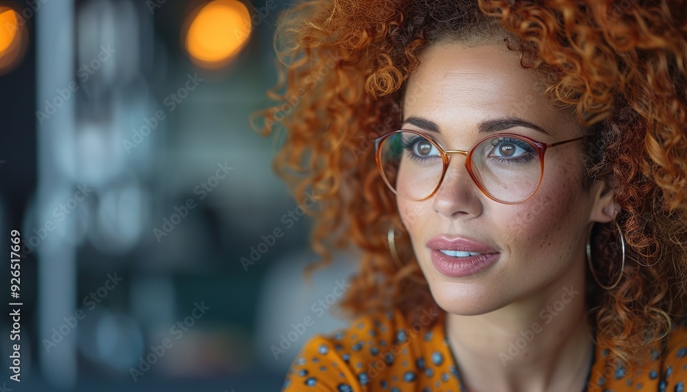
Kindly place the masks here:
<instances>
[{"instance_id":1,"label":"round thin-framed reddish-orange eyeglasses worn by the woman","mask_svg":"<svg viewBox=\"0 0 687 392\"><path fill-rule=\"evenodd\" d=\"M547 144L499 133L464 151L444 150L436 141L414 130L395 130L375 139L374 149L384 182L402 198L425 200L432 196L449 168L449 154L455 153L465 156L465 168L488 198L516 204L539 189L546 150L581 139L584 137Z\"/></svg>"}]
</instances>

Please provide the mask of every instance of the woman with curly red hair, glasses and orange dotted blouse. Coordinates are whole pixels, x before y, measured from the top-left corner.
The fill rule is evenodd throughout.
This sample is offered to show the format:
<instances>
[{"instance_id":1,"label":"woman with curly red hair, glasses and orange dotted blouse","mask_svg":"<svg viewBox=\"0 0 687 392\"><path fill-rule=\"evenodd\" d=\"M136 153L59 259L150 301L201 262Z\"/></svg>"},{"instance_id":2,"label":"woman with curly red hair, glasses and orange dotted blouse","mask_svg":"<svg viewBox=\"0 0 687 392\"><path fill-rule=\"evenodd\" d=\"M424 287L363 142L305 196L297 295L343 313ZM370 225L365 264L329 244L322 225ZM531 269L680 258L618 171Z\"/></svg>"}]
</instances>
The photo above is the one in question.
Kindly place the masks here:
<instances>
[{"instance_id":1,"label":"woman with curly red hair, glasses and orange dotted blouse","mask_svg":"<svg viewBox=\"0 0 687 392\"><path fill-rule=\"evenodd\" d=\"M284 391L683 391L687 11L300 3L275 168L363 249ZM279 91L280 93L276 93Z\"/></svg>"}]
</instances>

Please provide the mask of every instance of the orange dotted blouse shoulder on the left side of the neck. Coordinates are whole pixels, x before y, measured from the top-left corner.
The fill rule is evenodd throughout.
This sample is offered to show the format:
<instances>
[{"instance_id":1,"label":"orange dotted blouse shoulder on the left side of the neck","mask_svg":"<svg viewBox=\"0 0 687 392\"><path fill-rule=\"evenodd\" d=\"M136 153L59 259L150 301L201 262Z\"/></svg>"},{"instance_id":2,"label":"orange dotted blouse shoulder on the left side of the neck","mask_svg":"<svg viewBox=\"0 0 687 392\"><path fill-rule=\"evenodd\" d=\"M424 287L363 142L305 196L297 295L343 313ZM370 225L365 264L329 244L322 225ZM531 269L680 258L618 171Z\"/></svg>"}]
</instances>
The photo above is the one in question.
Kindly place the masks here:
<instances>
[{"instance_id":1,"label":"orange dotted blouse shoulder on the left side of the neck","mask_svg":"<svg viewBox=\"0 0 687 392\"><path fill-rule=\"evenodd\" d=\"M311 338L293 362L282 391L394 391L403 384L434 387L432 382L455 380L438 322L442 314L431 316L428 312L426 325L411 324L399 310L390 310Z\"/></svg>"}]
</instances>

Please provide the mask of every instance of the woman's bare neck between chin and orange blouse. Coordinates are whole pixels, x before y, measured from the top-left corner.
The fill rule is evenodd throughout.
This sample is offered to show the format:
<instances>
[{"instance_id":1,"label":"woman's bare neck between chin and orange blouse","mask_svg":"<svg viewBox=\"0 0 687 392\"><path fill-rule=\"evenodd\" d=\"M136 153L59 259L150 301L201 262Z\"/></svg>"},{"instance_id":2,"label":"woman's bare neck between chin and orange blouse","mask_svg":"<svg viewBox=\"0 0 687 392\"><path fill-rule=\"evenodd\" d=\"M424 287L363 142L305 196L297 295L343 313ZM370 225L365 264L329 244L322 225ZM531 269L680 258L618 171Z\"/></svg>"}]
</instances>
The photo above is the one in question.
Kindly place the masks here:
<instances>
[{"instance_id":1,"label":"woman's bare neck between chin and orange blouse","mask_svg":"<svg viewBox=\"0 0 687 392\"><path fill-rule=\"evenodd\" d=\"M449 345L466 391L585 389L595 355L584 264L536 295L480 316L447 314Z\"/></svg>"}]
</instances>

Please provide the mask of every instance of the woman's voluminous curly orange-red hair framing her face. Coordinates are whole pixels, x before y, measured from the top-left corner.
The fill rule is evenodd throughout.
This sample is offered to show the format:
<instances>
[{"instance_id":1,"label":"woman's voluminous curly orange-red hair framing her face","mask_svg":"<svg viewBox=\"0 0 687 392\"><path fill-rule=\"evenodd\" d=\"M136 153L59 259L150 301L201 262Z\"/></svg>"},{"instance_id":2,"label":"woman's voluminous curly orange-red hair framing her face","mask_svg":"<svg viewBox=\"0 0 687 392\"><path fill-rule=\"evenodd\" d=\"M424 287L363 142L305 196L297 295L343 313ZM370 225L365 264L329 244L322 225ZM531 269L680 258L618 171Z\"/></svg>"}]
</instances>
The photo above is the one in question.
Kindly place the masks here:
<instances>
[{"instance_id":1,"label":"woman's voluminous curly orange-red hair framing her face","mask_svg":"<svg viewBox=\"0 0 687 392\"><path fill-rule=\"evenodd\" d=\"M644 4L646 3L646 4ZM363 250L342 307L354 315L437 307L376 168L372 140L401 123L403 90L420 51L440 39L506 41L541 72L553 104L587 128L588 187L606 180L627 242L620 284L587 274L598 344L629 364L684 319L687 290L687 5L627 0L308 0L280 19L278 104L257 113L264 135L286 131L275 170L294 194L319 196L311 240ZM502 41L503 42L503 41ZM595 242L614 224L594 231ZM613 242L613 241L611 241ZM618 249L600 252L602 279ZM419 283L418 283L419 282Z\"/></svg>"}]
</instances>

